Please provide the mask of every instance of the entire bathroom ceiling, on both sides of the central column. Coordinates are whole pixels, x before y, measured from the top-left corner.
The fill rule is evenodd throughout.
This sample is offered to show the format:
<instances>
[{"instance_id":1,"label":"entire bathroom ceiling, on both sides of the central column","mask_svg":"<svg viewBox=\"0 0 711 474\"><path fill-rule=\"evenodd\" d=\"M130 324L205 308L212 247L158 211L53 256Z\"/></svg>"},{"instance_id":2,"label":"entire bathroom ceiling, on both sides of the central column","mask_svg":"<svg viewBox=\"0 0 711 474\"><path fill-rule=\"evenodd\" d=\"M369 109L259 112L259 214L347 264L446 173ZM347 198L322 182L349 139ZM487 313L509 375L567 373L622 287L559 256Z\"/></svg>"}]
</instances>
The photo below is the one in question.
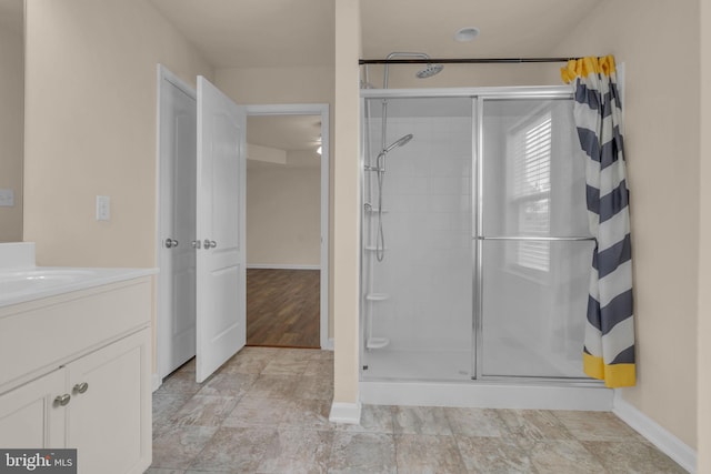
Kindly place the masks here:
<instances>
[{"instance_id":1,"label":"entire bathroom ceiling, on both sides of the central column","mask_svg":"<svg viewBox=\"0 0 711 474\"><path fill-rule=\"evenodd\" d=\"M216 68L332 65L333 0L149 0ZM550 56L601 0L362 0L363 56ZM474 41L453 40L478 27Z\"/></svg>"}]
</instances>

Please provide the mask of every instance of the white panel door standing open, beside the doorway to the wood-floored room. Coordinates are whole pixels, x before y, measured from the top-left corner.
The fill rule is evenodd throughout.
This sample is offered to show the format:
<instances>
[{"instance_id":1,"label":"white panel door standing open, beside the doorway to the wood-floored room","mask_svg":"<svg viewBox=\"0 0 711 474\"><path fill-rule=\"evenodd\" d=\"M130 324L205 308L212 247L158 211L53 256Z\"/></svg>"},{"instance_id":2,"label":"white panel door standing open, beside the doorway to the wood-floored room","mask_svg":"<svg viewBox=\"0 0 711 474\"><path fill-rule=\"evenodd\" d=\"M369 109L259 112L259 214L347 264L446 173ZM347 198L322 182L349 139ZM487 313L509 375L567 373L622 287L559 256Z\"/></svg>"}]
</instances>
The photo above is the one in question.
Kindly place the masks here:
<instances>
[{"instance_id":1,"label":"white panel door standing open, beside the doorway to the wood-floored room","mask_svg":"<svg viewBox=\"0 0 711 474\"><path fill-rule=\"evenodd\" d=\"M198 77L197 382L247 341L246 122L243 108Z\"/></svg>"}]
</instances>

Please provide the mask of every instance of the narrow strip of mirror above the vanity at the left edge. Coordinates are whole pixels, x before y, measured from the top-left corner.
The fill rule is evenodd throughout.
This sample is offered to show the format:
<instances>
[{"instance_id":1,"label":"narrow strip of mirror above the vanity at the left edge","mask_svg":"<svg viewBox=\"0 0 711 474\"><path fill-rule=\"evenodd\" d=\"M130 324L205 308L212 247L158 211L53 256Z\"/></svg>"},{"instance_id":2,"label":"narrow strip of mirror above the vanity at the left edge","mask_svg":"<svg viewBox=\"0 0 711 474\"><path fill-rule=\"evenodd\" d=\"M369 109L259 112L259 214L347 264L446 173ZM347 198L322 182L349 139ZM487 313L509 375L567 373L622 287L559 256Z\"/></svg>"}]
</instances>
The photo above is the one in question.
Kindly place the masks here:
<instances>
[{"instance_id":1,"label":"narrow strip of mirror above the vanity at the left edge","mask_svg":"<svg viewBox=\"0 0 711 474\"><path fill-rule=\"evenodd\" d=\"M14 206L0 208L0 242L22 240L23 57L22 18L0 22L0 189L14 191Z\"/></svg>"}]
</instances>

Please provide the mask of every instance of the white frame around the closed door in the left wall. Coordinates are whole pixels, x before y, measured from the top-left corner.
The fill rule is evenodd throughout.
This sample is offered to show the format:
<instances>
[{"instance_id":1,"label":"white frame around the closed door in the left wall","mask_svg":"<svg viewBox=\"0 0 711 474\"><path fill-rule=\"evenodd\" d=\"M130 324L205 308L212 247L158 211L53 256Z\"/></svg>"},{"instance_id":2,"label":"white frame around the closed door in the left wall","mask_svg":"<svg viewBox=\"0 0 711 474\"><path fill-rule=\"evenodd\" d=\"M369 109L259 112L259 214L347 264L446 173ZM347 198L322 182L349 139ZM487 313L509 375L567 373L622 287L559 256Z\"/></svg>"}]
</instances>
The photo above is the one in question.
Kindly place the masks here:
<instances>
[{"instance_id":1,"label":"white frame around the closed door in the left wall","mask_svg":"<svg viewBox=\"0 0 711 474\"><path fill-rule=\"evenodd\" d=\"M166 297L168 297L168 294L166 292L166 286L164 286L167 284L164 283L166 263L163 262L163 259L161 256L162 235L163 235L163 229L161 224L161 215L162 215L161 213L166 211L164 209L162 209L162 205L161 205L161 191L162 191L161 181L163 179L163 175L162 175L163 170L161 167L162 149L160 144L161 120L164 119L161 117L161 97L162 97L163 84L164 82L170 82L176 88L184 92L187 95L196 100L196 102L198 100L198 92L192 85L188 84L186 81L180 79L178 75L176 75L173 72L171 72L168 68L166 68L162 64L158 64L156 69L157 69L158 84L156 89L157 90L157 100L156 100L157 102L156 118L157 119L156 119L156 236L154 236L154 244L156 244L156 264L159 269L159 276L156 279L156 283L154 283L156 320L154 320L154 326L153 326L153 332L154 332L153 343L156 344L156 352L154 352L156 367L154 367L154 373L152 375L153 391L156 391L161 385L162 379L168 375L168 374L161 373L162 363L168 356L164 353L168 347L168 345L164 342L166 335L161 333L161 327L164 326L164 321L167 317L169 317L168 314L166 314L166 307L168 307L168 305L166 304ZM186 244L188 244L188 242L186 242Z\"/></svg>"}]
</instances>

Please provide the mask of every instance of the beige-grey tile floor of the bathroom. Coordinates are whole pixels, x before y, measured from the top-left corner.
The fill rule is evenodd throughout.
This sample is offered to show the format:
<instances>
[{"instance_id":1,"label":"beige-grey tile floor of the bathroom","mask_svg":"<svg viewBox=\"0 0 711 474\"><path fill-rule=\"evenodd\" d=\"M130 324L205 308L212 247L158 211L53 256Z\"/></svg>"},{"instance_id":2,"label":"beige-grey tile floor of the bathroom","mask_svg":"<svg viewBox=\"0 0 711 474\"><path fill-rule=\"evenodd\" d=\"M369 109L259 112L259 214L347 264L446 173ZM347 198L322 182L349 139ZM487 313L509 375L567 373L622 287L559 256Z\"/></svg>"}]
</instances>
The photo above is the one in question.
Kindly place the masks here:
<instances>
[{"instance_id":1,"label":"beige-grey tile floor of the bathroom","mask_svg":"<svg viewBox=\"0 0 711 474\"><path fill-rule=\"evenodd\" d=\"M328 421L333 353L246 347L153 393L148 474L684 473L611 413L363 406Z\"/></svg>"}]
</instances>

